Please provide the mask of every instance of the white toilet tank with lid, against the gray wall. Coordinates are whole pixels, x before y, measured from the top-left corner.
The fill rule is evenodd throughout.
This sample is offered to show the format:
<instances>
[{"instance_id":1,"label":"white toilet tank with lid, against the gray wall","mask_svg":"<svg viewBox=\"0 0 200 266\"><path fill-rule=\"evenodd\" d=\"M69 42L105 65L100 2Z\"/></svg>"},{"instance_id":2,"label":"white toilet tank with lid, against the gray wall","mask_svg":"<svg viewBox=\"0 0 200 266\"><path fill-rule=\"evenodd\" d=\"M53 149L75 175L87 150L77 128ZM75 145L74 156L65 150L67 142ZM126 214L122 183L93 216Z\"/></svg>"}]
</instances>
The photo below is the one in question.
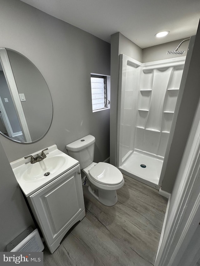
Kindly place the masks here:
<instances>
[{"instance_id":1,"label":"white toilet tank with lid, against the gray wall","mask_svg":"<svg viewBox=\"0 0 200 266\"><path fill-rule=\"evenodd\" d=\"M95 137L88 135L66 145L69 156L79 161L81 169L93 162L94 143Z\"/></svg>"}]
</instances>

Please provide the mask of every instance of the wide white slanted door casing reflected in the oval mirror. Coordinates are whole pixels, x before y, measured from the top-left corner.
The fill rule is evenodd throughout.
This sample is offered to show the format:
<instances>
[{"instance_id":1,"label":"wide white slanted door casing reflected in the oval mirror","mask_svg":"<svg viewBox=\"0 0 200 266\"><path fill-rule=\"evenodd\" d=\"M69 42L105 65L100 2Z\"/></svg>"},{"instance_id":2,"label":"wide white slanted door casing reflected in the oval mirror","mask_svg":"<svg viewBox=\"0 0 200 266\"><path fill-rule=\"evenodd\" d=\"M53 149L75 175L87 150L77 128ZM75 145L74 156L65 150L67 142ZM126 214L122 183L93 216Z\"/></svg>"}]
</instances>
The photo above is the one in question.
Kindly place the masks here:
<instances>
[{"instance_id":1,"label":"wide white slanted door casing reflected in the oval mirror","mask_svg":"<svg viewBox=\"0 0 200 266\"><path fill-rule=\"evenodd\" d=\"M21 100L20 100L19 93L17 90L17 85L15 83L15 79L12 73L12 68L11 68L8 54L5 48L0 48L0 62L2 65L4 76L8 84L8 89L12 97L12 101L13 101L13 104L16 110L16 114L17 114L21 129L22 129L24 141L31 143L32 142L31 135L28 129L27 121L26 121L26 118L23 112ZM4 118L6 119L6 116ZM8 124L8 127L9 127L9 124ZM9 134L12 135L12 132L9 132L8 135Z\"/></svg>"}]
</instances>

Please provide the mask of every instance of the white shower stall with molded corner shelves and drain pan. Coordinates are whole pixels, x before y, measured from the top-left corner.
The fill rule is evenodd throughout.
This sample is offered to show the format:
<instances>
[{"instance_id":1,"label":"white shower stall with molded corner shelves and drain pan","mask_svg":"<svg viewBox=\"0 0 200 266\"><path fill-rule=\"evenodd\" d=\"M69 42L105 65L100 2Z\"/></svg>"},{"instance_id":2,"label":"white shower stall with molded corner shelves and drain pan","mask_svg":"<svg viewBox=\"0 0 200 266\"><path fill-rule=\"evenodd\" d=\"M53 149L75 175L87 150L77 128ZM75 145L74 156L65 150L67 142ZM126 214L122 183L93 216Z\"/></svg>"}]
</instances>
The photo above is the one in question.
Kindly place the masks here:
<instances>
[{"instance_id":1,"label":"white shower stall with molded corner shelves and drain pan","mask_svg":"<svg viewBox=\"0 0 200 266\"><path fill-rule=\"evenodd\" d=\"M117 167L159 189L185 56L148 63L120 55Z\"/></svg>"}]
</instances>

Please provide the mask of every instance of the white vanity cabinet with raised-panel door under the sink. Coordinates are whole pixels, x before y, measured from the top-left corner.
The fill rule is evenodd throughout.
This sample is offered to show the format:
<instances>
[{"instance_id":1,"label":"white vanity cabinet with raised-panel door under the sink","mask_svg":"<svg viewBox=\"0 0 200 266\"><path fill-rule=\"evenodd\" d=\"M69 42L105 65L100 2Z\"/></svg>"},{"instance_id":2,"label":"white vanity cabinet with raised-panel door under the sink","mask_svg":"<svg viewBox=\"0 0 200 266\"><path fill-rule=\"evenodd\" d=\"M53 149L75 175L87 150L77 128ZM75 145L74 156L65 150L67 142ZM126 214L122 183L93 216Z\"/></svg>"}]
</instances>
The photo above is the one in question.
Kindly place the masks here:
<instances>
[{"instance_id":1,"label":"white vanity cabinet with raised-panel door under the sink","mask_svg":"<svg viewBox=\"0 0 200 266\"><path fill-rule=\"evenodd\" d=\"M80 165L29 197L28 202L51 253L67 231L85 216Z\"/></svg>"}]
</instances>

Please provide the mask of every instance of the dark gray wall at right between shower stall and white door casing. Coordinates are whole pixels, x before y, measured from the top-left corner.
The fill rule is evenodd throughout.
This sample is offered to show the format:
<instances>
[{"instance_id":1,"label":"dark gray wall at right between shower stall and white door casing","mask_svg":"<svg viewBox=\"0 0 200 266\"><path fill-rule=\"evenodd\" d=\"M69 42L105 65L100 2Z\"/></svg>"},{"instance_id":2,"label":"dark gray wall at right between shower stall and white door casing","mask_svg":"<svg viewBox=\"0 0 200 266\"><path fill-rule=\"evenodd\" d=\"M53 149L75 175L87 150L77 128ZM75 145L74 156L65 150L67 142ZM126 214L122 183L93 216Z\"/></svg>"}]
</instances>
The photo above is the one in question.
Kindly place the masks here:
<instances>
[{"instance_id":1,"label":"dark gray wall at right between shower stall and white door casing","mask_svg":"<svg viewBox=\"0 0 200 266\"><path fill-rule=\"evenodd\" d=\"M173 189L174 181L177 176L178 168L183 156L200 97L200 34L198 33L198 35L196 36L196 39L195 36L192 36L191 42L189 44L188 56L186 57L183 78L180 85L181 95L176 106L176 109L179 108L179 111L177 114L175 109L174 116L177 116L177 120L176 124L175 121L172 123L172 128L175 126L173 129L173 139L170 140L169 138L169 142L171 141L171 146L169 146L168 150L166 151L169 154L168 161L164 162L166 165L163 163L163 167L166 167L166 170L164 172L162 190L170 193ZM195 43L193 46L192 42L194 40Z\"/></svg>"}]
</instances>

